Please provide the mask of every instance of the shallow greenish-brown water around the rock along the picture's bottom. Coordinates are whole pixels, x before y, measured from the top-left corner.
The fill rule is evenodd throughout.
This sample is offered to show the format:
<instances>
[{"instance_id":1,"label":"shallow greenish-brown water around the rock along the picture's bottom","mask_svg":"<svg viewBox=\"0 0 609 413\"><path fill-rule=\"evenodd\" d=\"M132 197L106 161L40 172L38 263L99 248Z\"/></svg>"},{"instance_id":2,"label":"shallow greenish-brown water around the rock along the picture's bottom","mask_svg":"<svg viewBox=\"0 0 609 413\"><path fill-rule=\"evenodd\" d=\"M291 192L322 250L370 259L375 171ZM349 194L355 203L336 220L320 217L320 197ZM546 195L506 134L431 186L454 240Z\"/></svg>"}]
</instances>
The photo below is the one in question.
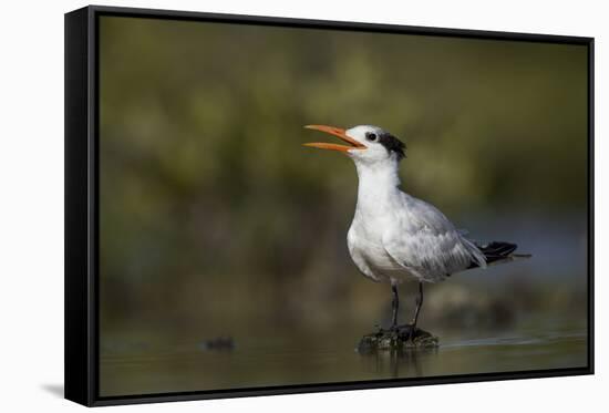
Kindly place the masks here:
<instances>
[{"instance_id":1,"label":"shallow greenish-brown water around the rock along the picture's bottom","mask_svg":"<svg viewBox=\"0 0 609 413\"><path fill-rule=\"evenodd\" d=\"M587 332L551 326L504 333L440 334L440 348L401 354L360 354L362 334L235 338L233 349L208 350L202 340L173 344L116 341L101 349L101 395L149 394L285 384L509 372L585 366Z\"/></svg>"}]
</instances>

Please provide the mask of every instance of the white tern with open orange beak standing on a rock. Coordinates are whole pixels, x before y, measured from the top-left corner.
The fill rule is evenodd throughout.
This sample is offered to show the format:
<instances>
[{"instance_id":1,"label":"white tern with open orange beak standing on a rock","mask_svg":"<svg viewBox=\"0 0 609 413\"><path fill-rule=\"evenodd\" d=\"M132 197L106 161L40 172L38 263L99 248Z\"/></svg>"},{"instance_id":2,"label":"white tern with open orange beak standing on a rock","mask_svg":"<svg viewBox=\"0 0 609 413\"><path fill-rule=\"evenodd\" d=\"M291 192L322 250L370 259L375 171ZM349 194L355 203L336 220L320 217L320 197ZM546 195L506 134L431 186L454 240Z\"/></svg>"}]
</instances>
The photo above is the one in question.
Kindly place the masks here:
<instances>
[{"instance_id":1,"label":"white tern with open orange beak standing on a rock","mask_svg":"<svg viewBox=\"0 0 609 413\"><path fill-rule=\"evenodd\" d=\"M451 275L489 264L529 257L515 255L516 245L468 239L433 205L400 189L399 165L405 145L378 126L350 130L308 125L348 143L307 143L306 146L339 151L355 163L359 187L355 215L347 236L349 252L359 270L374 281L391 283L390 330L414 337L423 304L423 282L438 282ZM410 324L398 324L398 285L419 282L416 310Z\"/></svg>"}]
</instances>

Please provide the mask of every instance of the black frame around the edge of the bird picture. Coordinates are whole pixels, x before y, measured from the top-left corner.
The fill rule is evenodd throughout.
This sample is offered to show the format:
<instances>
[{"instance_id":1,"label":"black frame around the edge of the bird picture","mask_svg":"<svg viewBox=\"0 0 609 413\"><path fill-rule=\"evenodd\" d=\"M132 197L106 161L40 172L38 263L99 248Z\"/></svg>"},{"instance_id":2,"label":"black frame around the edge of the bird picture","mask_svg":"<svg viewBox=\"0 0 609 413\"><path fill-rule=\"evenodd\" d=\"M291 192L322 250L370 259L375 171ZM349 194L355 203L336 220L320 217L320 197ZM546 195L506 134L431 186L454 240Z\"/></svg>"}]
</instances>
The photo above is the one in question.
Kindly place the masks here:
<instances>
[{"instance_id":1,"label":"black frame around the edge of the bird picture","mask_svg":"<svg viewBox=\"0 0 609 413\"><path fill-rule=\"evenodd\" d=\"M99 19L247 23L586 45L588 50L588 365L223 391L99 395ZM593 373L593 38L90 6L65 14L65 399L87 406L567 376Z\"/></svg>"}]
</instances>

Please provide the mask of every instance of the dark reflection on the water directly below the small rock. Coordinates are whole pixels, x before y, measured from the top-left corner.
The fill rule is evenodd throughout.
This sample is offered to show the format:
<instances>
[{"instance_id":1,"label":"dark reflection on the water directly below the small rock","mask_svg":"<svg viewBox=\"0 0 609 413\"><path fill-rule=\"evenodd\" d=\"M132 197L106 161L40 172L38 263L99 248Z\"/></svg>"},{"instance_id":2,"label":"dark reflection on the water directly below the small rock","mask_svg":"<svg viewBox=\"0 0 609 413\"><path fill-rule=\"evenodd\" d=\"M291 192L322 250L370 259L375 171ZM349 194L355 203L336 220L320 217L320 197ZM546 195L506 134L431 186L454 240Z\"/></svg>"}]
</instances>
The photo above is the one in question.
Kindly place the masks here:
<instances>
[{"instance_id":1,"label":"dark reflection on the water directly below the small rock","mask_svg":"<svg viewBox=\"0 0 609 413\"><path fill-rule=\"evenodd\" d=\"M391 379L422 376L425 374L425 359L437 355L437 348L379 350L367 353L360 352L362 369Z\"/></svg>"}]
</instances>

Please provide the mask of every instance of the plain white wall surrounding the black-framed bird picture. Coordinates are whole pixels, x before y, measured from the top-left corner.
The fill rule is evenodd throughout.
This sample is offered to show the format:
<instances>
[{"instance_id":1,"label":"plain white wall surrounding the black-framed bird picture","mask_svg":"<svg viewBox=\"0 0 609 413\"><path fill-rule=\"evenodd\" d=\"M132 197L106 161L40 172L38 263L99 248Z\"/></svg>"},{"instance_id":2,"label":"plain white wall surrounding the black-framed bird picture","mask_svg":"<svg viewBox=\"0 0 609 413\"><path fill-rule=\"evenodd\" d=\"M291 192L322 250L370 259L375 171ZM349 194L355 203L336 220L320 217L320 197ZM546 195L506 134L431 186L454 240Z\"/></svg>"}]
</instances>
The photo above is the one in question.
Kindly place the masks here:
<instances>
[{"instance_id":1,"label":"plain white wall surrounding the black-framed bird picture","mask_svg":"<svg viewBox=\"0 0 609 413\"><path fill-rule=\"evenodd\" d=\"M596 38L597 374L155 404L130 411L572 412L607 404L609 13L602 1L102 1L107 6ZM0 14L0 410L75 411L63 386L63 13L83 1L7 1Z\"/></svg>"}]
</instances>

